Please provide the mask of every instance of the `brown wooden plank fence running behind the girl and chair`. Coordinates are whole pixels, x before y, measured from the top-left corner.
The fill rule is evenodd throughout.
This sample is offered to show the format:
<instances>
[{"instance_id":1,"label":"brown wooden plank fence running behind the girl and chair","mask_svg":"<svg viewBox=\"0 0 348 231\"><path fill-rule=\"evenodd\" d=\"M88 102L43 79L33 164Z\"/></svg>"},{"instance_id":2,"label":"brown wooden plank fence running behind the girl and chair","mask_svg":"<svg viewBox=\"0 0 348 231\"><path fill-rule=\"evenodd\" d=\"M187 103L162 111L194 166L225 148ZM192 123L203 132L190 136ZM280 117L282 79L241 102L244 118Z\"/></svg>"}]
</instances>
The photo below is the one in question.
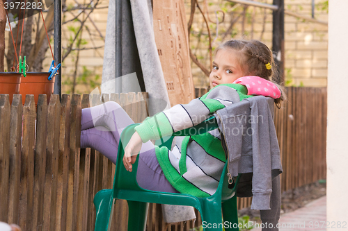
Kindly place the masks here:
<instances>
[{"instance_id":1,"label":"brown wooden plank fence running behind the girl and chair","mask_svg":"<svg viewBox=\"0 0 348 231\"><path fill-rule=\"evenodd\" d=\"M196 89L201 96L207 89ZM283 170L282 190L326 178L326 89L287 88L289 101L276 110L275 123ZM93 197L111 188L115 165L92 148L79 148L81 108L116 101L134 122L148 114L146 93L40 95L24 106L0 94L0 221L22 230L94 230ZM139 103L134 103L139 102ZM239 198L239 209L251 198ZM147 230L189 230L196 221L168 225L161 206L151 204ZM127 203L117 200L111 230L127 230ZM117 225L116 225L117 224Z\"/></svg>"}]
</instances>

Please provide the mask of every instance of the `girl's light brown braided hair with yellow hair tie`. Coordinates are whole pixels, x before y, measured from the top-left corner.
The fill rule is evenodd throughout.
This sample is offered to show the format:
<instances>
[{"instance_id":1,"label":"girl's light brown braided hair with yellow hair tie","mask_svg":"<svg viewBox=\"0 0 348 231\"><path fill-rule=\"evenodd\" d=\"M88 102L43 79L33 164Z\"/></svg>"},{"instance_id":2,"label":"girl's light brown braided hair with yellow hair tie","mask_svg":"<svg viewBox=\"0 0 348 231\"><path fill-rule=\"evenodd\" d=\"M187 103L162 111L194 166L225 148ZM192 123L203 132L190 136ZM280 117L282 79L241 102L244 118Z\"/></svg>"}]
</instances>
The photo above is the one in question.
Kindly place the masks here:
<instances>
[{"instance_id":1,"label":"girl's light brown braided hair with yellow hair tie","mask_svg":"<svg viewBox=\"0 0 348 231\"><path fill-rule=\"evenodd\" d=\"M258 40L228 40L215 49L215 54L221 49L232 49L237 52L237 60L245 76L259 76L276 84L281 95L274 100L274 103L280 108L280 102L286 100L286 95L276 80L276 78L279 80L278 71L268 46ZM271 69L267 69L268 63Z\"/></svg>"}]
</instances>

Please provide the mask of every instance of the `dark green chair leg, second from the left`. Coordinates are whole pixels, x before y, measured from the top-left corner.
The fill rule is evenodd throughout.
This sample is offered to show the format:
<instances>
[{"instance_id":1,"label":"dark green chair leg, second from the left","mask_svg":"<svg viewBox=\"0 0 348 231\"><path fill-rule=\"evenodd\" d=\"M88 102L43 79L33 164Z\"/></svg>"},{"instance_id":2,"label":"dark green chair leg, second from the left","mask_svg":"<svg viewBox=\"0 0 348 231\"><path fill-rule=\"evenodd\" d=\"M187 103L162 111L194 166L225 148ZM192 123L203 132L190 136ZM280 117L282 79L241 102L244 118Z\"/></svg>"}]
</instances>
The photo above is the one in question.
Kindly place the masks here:
<instances>
[{"instance_id":1,"label":"dark green chair leg, second from the left","mask_svg":"<svg viewBox=\"0 0 348 231\"><path fill-rule=\"evenodd\" d=\"M128 230L145 231L149 203L127 200Z\"/></svg>"}]
</instances>

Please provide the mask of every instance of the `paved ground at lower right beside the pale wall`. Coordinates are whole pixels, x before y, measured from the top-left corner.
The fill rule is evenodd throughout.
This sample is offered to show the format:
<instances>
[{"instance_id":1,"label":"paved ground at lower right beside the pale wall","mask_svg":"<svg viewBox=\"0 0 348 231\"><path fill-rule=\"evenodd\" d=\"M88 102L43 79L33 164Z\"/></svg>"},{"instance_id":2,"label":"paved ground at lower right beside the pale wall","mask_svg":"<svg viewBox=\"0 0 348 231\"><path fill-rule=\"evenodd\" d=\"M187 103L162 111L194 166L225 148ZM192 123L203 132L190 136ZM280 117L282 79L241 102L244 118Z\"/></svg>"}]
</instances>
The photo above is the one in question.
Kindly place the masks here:
<instances>
[{"instance_id":1,"label":"paved ground at lower right beside the pale wall","mask_svg":"<svg viewBox=\"0 0 348 231\"><path fill-rule=\"evenodd\" d=\"M326 196L313 200L305 207L280 215L279 231L324 231L326 221ZM261 231L254 228L252 231Z\"/></svg>"}]
</instances>

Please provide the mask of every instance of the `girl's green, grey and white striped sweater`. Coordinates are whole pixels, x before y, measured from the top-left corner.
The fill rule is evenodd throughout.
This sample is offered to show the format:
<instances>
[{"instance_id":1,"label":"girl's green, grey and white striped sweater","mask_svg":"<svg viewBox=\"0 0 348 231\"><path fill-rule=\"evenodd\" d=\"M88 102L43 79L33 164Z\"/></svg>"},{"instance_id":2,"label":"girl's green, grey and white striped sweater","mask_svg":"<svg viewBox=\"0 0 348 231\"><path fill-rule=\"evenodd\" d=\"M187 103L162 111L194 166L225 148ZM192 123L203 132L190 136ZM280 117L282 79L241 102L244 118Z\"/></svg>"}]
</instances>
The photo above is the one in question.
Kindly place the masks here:
<instances>
[{"instance_id":1,"label":"girl's green, grey and white striped sweater","mask_svg":"<svg viewBox=\"0 0 348 231\"><path fill-rule=\"evenodd\" d=\"M135 130L144 143L160 139L196 126L216 110L232 104L236 97L237 101L251 97L247 93L244 85L217 85L188 104L178 104L148 117ZM172 150L158 146L155 150L164 175L177 191L198 197L214 194L226 162L218 128L203 135L175 137Z\"/></svg>"}]
</instances>

